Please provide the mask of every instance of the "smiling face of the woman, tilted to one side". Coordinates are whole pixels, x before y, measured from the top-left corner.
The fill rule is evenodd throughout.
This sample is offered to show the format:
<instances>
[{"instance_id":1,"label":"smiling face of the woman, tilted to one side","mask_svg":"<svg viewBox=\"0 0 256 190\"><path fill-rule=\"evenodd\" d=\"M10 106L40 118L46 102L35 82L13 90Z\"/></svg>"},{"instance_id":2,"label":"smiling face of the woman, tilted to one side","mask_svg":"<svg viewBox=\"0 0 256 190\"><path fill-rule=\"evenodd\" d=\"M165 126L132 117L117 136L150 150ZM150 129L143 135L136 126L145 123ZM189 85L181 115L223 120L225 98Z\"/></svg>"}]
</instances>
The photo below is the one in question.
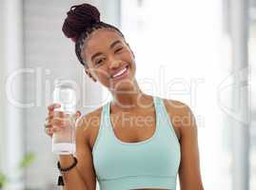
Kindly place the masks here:
<instances>
[{"instance_id":1,"label":"smiling face of the woman, tilted to one side","mask_svg":"<svg viewBox=\"0 0 256 190\"><path fill-rule=\"evenodd\" d=\"M125 39L116 31L100 28L89 34L82 57L87 74L110 89L126 89L135 76L134 55Z\"/></svg>"}]
</instances>

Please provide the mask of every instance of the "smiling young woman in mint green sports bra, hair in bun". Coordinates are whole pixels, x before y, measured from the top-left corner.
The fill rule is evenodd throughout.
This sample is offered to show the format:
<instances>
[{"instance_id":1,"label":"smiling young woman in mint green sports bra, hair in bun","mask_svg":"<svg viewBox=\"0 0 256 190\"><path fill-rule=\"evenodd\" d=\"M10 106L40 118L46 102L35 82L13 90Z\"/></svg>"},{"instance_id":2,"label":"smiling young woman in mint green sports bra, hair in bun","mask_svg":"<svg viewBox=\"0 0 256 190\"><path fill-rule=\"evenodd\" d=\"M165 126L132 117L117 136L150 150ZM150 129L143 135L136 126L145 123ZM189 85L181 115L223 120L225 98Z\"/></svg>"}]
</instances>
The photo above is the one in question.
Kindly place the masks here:
<instances>
[{"instance_id":1,"label":"smiling young woman in mint green sports bra, hair in bun","mask_svg":"<svg viewBox=\"0 0 256 190\"><path fill-rule=\"evenodd\" d=\"M77 111L76 155L59 161L60 168L69 168L64 187L94 190L97 179L101 190L174 190L179 174L182 190L202 190L197 127L188 106L140 89L124 35L101 22L95 7L71 7L63 31L75 42L85 72L112 95L85 116ZM49 105L49 136L67 124L61 122L64 114L54 111L58 106Z\"/></svg>"}]
</instances>

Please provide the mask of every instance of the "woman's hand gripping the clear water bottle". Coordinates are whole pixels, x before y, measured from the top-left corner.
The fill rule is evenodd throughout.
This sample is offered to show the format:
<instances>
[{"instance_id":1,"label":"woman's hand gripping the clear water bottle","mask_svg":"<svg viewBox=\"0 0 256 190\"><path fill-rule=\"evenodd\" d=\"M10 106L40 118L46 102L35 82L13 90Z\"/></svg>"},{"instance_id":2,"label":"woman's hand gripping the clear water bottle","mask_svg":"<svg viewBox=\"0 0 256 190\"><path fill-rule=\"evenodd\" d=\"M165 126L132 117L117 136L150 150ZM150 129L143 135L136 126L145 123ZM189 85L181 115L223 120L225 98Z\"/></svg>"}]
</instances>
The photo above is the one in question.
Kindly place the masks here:
<instances>
[{"instance_id":1,"label":"woman's hand gripping the clear water bottle","mask_svg":"<svg viewBox=\"0 0 256 190\"><path fill-rule=\"evenodd\" d=\"M48 106L48 117L45 122L45 131L49 137L52 137L53 133L59 131L61 128L67 125L67 118L63 111L56 111L55 108L59 108L60 104L49 104ZM81 116L80 111L76 111L74 114L75 121Z\"/></svg>"}]
</instances>

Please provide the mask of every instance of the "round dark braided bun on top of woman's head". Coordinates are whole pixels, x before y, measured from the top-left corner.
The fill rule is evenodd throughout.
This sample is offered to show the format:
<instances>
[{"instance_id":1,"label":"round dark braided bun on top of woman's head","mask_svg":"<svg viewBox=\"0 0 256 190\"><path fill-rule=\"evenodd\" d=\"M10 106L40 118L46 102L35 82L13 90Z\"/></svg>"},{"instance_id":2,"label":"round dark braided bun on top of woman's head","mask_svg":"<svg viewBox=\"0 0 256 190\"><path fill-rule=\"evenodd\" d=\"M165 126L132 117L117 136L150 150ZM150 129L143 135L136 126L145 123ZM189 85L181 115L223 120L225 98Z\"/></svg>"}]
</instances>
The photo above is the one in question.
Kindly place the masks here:
<instances>
[{"instance_id":1,"label":"round dark braided bun on top of woman's head","mask_svg":"<svg viewBox=\"0 0 256 190\"><path fill-rule=\"evenodd\" d=\"M87 28L100 22L99 10L89 4L72 6L67 14L68 16L64 21L62 31L74 42Z\"/></svg>"}]
</instances>

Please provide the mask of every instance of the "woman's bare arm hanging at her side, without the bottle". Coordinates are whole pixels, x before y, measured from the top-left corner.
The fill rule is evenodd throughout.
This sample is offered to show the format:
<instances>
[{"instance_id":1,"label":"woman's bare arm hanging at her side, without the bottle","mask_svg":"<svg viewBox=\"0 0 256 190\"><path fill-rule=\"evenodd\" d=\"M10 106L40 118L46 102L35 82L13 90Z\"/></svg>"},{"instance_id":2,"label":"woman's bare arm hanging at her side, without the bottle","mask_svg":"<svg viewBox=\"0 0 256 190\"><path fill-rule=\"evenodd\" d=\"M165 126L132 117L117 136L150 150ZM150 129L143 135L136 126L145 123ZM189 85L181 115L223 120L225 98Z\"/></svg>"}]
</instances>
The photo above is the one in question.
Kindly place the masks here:
<instances>
[{"instance_id":1,"label":"woman's bare arm hanging at her side, without the bottle","mask_svg":"<svg viewBox=\"0 0 256 190\"><path fill-rule=\"evenodd\" d=\"M181 190L204 190L200 173L197 125L193 113L186 104L179 110L177 123L181 138L181 163L179 179Z\"/></svg>"}]
</instances>

